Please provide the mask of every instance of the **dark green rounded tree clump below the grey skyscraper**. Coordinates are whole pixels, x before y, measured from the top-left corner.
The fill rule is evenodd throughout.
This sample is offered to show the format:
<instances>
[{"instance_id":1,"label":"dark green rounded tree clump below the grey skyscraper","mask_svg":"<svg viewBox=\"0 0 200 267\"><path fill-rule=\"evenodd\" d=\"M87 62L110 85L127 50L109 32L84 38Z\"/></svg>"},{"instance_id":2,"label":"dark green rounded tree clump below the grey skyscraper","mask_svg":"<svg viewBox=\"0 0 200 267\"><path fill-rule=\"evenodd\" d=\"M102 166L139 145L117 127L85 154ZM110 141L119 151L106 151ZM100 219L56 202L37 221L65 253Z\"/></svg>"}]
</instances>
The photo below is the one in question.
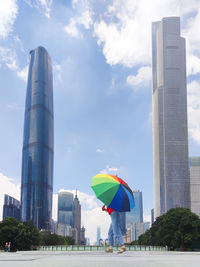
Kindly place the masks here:
<instances>
[{"instance_id":1,"label":"dark green rounded tree clump below the grey skyscraper","mask_svg":"<svg viewBox=\"0 0 200 267\"><path fill-rule=\"evenodd\" d=\"M152 227L139 237L140 245L189 248L200 239L200 219L186 208L173 208L158 217Z\"/></svg>"}]
</instances>

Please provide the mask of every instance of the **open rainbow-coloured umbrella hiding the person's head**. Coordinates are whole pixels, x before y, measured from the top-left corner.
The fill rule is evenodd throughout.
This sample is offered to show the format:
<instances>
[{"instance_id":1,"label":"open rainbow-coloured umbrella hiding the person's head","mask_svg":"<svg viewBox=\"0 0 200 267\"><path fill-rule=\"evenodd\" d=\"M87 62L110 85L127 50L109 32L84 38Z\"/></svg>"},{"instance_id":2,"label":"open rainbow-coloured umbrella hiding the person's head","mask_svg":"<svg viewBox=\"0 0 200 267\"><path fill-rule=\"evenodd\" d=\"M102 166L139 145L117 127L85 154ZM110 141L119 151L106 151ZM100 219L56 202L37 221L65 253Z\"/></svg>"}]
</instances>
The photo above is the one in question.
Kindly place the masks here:
<instances>
[{"instance_id":1,"label":"open rainbow-coloured umbrella hiding the person's head","mask_svg":"<svg viewBox=\"0 0 200 267\"><path fill-rule=\"evenodd\" d=\"M117 211L130 211L135 202L132 190L121 178L111 174L97 174L92 178L96 197L107 207Z\"/></svg>"}]
</instances>

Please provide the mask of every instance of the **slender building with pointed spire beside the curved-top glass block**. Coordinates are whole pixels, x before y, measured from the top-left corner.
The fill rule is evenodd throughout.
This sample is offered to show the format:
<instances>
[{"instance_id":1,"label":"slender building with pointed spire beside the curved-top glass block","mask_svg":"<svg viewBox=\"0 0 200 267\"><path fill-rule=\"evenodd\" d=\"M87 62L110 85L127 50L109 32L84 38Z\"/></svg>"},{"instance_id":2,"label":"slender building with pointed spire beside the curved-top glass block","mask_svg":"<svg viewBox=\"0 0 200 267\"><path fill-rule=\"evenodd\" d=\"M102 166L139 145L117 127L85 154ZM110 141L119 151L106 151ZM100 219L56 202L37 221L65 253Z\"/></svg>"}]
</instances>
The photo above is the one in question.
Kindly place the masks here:
<instances>
[{"instance_id":1,"label":"slender building with pointed spire beside the curved-top glass block","mask_svg":"<svg viewBox=\"0 0 200 267\"><path fill-rule=\"evenodd\" d=\"M77 197L77 191L73 202L73 227L77 229L77 243L81 240L81 205Z\"/></svg>"}]
</instances>

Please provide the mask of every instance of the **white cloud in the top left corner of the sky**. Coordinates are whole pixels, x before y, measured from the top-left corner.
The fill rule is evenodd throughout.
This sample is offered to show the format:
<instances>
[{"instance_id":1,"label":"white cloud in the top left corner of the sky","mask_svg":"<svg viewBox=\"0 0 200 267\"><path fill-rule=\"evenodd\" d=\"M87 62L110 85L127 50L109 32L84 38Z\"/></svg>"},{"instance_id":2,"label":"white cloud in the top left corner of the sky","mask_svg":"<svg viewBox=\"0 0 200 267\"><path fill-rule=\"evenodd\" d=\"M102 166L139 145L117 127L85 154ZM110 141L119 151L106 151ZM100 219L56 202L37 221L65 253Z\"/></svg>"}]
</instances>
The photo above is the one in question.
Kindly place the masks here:
<instances>
[{"instance_id":1,"label":"white cloud in the top left corner of the sky","mask_svg":"<svg viewBox=\"0 0 200 267\"><path fill-rule=\"evenodd\" d=\"M6 38L12 31L17 17L18 6L16 0L6 0L0 3L0 36Z\"/></svg>"}]
</instances>

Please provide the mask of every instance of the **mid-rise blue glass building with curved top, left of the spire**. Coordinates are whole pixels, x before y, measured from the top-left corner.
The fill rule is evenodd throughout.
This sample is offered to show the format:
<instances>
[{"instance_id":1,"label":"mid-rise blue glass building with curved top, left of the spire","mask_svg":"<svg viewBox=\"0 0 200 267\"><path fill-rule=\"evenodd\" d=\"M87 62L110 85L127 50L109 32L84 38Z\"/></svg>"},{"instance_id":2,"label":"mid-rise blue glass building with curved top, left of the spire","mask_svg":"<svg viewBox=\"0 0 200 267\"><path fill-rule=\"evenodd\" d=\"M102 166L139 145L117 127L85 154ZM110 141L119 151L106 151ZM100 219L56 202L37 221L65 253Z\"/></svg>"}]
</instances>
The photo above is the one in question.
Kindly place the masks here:
<instances>
[{"instance_id":1,"label":"mid-rise blue glass building with curved top, left of the spire","mask_svg":"<svg viewBox=\"0 0 200 267\"><path fill-rule=\"evenodd\" d=\"M70 192L58 193L58 224L60 223L73 227L73 194Z\"/></svg>"}]
</instances>

